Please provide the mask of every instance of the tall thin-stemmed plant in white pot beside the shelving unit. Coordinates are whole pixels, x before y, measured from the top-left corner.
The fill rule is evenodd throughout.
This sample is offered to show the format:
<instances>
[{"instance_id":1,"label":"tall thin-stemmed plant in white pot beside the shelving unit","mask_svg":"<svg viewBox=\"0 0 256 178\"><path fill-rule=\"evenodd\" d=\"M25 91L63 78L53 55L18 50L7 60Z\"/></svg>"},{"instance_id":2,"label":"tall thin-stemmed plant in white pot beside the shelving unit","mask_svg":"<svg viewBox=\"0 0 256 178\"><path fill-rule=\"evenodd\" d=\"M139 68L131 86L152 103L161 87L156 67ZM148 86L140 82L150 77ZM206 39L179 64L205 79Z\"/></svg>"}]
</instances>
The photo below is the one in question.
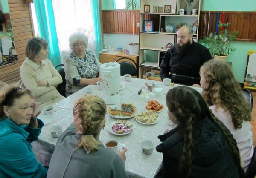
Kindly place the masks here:
<instances>
[{"instance_id":1,"label":"tall thin-stemmed plant in white pot beside the shelving unit","mask_svg":"<svg viewBox=\"0 0 256 178\"><path fill-rule=\"evenodd\" d=\"M140 6L137 4L136 0L129 0L126 3L126 9L131 8L132 11L132 33L133 33L133 38L132 38L132 42L129 44L129 54L130 55L138 55L139 54L139 43L135 43L134 41L134 10L136 10L137 8L140 8Z\"/></svg>"}]
</instances>

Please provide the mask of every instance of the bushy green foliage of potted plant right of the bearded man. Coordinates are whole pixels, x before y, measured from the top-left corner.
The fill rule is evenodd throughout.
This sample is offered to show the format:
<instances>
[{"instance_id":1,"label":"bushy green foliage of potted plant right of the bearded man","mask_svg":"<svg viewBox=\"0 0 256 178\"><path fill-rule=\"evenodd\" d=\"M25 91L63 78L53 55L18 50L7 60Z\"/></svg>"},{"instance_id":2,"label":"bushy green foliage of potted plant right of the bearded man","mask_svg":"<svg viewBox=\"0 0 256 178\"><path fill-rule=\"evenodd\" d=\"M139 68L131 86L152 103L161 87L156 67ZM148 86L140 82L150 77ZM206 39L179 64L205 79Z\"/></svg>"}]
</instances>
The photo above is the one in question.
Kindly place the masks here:
<instances>
[{"instance_id":1,"label":"bushy green foliage of potted plant right of the bearded man","mask_svg":"<svg viewBox=\"0 0 256 178\"><path fill-rule=\"evenodd\" d=\"M216 56L215 59L218 58L217 56L222 56L226 60L227 55L236 50L230 46L230 41L233 41L239 33L238 31L228 32L228 26L230 26L230 23L219 22L220 32L215 36L208 35L201 40L201 42L206 44L210 53Z\"/></svg>"}]
</instances>

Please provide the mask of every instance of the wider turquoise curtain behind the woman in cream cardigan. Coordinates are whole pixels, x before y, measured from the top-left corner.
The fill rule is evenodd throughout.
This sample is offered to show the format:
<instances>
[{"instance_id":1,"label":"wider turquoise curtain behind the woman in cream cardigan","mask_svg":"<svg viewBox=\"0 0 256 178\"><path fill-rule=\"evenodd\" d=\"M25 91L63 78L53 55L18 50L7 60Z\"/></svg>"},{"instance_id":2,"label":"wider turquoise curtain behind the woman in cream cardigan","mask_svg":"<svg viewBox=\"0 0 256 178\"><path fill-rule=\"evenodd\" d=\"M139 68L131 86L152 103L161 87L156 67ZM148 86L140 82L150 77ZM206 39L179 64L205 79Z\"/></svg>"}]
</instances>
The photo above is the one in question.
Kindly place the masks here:
<instances>
[{"instance_id":1,"label":"wider turquoise curtain behind the woman in cream cardigan","mask_svg":"<svg viewBox=\"0 0 256 178\"><path fill-rule=\"evenodd\" d=\"M34 0L35 13L38 19L39 36L48 42L48 59L53 66L61 63L60 50L55 26L51 0Z\"/></svg>"}]
</instances>

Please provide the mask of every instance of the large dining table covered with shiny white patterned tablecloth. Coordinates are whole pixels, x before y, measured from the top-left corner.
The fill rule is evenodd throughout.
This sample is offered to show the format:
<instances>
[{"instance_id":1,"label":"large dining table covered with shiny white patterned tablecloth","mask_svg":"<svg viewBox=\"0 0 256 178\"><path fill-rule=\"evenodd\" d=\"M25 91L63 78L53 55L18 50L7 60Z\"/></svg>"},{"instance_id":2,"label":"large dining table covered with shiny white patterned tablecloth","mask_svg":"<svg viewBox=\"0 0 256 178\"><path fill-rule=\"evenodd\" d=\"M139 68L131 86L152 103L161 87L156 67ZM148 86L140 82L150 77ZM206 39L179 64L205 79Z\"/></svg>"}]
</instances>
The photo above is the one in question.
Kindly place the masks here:
<instances>
[{"instance_id":1,"label":"large dining table covered with shiny white patterned tablecloth","mask_svg":"<svg viewBox=\"0 0 256 178\"><path fill-rule=\"evenodd\" d=\"M121 103L133 103L136 107L134 115L146 111L145 106L147 106L149 100L157 100L160 104L163 104L163 109L160 112L157 112L158 118L153 124L138 122L134 115L126 118L106 113L105 128L100 132L99 140L104 144L108 140L116 140L118 141L119 149L122 149L122 147L128 149L125 154L125 169L130 178L152 178L158 171L159 165L163 160L162 153L157 152L155 149L155 147L160 144L160 140L157 136L163 135L166 129L171 130L175 127L175 124L171 123L168 119L166 93L170 89L180 85L174 84L174 86L166 86L163 82L140 78L131 78L131 80L126 81L123 76L120 76L120 81L119 94L121 96ZM148 89L151 87L148 87L148 85L163 88L163 92L160 95L154 95L151 96L152 98L147 97L147 99L145 99L139 95L139 91L144 89L144 92L149 92ZM52 152L54 151L58 139L52 137L50 128L55 125L60 125L64 131L70 126L74 121L74 103L78 98L87 95L86 88L88 87L93 88L92 95L97 95L104 99L105 91L102 90L102 88L97 85L89 85L53 105L54 113L52 115L52 121L44 125L38 139L32 142L35 156L42 164L46 166L49 165ZM202 92L201 88L193 88L198 90L198 92ZM107 104L107 109L108 107L111 107L111 105ZM44 115L44 113L42 112L40 115ZM131 129L133 131L128 132L127 134L116 134L113 131L111 132L112 124L117 120L124 120L131 123ZM150 140L154 143L154 151L151 154L147 155L142 152L139 143L144 140Z\"/></svg>"}]
</instances>

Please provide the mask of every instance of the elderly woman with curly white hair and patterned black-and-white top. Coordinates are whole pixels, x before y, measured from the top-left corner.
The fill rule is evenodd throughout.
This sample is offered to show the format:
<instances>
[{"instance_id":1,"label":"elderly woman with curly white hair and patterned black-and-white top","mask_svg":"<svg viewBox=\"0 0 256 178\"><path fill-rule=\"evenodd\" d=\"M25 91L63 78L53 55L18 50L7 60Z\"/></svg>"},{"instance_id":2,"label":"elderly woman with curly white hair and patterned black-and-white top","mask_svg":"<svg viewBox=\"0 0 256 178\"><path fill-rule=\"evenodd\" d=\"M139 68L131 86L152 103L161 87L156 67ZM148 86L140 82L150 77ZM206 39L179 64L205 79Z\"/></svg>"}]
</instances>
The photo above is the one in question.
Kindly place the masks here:
<instances>
[{"instance_id":1,"label":"elderly woman with curly white hair and patterned black-and-white top","mask_svg":"<svg viewBox=\"0 0 256 178\"><path fill-rule=\"evenodd\" d=\"M102 81L100 62L91 50L87 50L88 38L81 32L75 32L69 38L73 50L66 59L66 96L72 95L84 86Z\"/></svg>"}]
</instances>

